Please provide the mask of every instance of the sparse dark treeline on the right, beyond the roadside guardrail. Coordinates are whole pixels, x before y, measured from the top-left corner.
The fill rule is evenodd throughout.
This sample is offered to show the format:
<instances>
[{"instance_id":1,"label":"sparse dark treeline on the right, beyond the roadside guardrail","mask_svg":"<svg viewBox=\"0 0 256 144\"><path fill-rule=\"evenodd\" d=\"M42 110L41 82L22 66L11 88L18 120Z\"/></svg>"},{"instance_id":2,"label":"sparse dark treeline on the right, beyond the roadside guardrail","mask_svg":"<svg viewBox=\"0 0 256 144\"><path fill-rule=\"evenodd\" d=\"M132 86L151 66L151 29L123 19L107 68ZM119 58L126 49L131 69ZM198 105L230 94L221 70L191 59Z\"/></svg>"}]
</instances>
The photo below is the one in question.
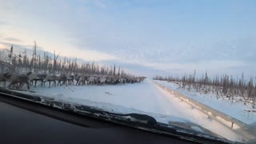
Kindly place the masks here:
<instances>
[{"instance_id":1,"label":"sparse dark treeline on the right, beyond the roadside guardrail","mask_svg":"<svg viewBox=\"0 0 256 144\"><path fill-rule=\"evenodd\" d=\"M216 98L226 97L230 100L238 100L238 97L242 97L246 101L256 101L256 86L254 85L254 78L250 78L246 82L244 74L242 73L240 78L234 78L232 75L221 74L215 75L210 78L206 74L202 74L201 77L194 74L184 74L182 76L154 76L155 80L163 80L168 82L175 82L179 88L184 90L195 90L196 92L205 94L216 94ZM254 105L253 105L254 107Z\"/></svg>"}]
</instances>

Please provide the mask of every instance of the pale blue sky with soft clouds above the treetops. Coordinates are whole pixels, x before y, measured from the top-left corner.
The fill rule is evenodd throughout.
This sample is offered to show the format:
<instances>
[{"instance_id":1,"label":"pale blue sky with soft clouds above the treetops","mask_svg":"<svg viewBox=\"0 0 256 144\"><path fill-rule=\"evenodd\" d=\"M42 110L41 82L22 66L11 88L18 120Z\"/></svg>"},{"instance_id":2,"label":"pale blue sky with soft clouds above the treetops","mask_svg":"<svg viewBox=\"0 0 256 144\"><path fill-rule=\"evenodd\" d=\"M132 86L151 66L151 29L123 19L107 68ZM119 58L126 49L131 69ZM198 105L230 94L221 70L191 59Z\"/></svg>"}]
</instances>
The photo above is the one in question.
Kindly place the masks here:
<instances>
[{"instance_id":1,"label":"pale blue sky with soft clouds above the treetops","mask_svg":"<svg viewBox=\"0 0 256 144\"><path fill-rule=\"evenodd\" d=\"M0 0L11 44L134 74L256 75L254 0Z\"/></svg>"}]
</instances>

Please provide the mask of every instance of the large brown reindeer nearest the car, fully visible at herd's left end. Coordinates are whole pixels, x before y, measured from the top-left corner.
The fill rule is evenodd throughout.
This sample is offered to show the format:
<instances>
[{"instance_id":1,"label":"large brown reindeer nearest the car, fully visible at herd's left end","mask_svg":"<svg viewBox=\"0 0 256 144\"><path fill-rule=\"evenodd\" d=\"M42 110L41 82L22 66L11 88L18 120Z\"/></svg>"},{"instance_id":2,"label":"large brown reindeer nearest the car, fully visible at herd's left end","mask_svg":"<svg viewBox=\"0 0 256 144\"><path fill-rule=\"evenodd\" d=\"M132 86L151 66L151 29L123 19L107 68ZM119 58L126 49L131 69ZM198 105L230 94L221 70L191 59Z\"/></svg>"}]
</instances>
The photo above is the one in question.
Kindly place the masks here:
<instances>
[{"instance_id":1,"label":"large brown reindeer nearest the car, fully visible at herd's left end","mask_svg":"<svg viewBox=\"0 0 256 144\"><path fill-rule=\"evenodd\" d=\"M8 87L10 88L11 86L19 84L19 86L17 88L20 89L24 85L24 83L26 83L27 89L30 90L30 82L29 82L30 81L30 78L29 78L30 74L32 74L32 73L29 72L27 74L20 74L20 75L18 75L18 74L7 74L6 79L7 79L7 81L10 82Z\"/></svg>"}]
</instances>

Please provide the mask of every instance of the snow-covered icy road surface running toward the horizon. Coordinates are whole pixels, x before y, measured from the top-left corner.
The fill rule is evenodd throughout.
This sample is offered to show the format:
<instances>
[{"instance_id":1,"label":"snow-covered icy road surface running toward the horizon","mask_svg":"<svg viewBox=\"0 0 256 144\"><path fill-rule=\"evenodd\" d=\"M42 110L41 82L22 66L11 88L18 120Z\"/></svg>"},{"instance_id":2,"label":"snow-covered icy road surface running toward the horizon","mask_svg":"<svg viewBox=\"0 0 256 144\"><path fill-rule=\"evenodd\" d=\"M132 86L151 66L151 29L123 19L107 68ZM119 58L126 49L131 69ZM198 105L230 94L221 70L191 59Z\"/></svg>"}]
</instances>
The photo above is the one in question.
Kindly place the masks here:
<instances>
[{"instance_id":1,"label":"snow-covered icy road surface running toward the horizon","mask_svg":"<svg viewBox=\"0 0 256 144\"><path fill-rule=\"evenodd\" d=\"M150 80L117 86L57 86L51 88L38 86L31 88L31 90L52 98L60 98L84 105L90 104L90 106L106 108L106 110L118 110L117 112L122 113L142 110L147 113L170 115L171 117L165 117L167 119L164 121L162 120L163 117L158 117L156 120L158 122L168 122L169 120L180 122L180 120L186 119L224 138L238 142L242 140L238 134L235 134L221 123L208 119L206 114L191 108L186 102L182 102L181 99L167 93L166 90L162 90ZM131 109L126 111L122 107ZM154 114L151 114L151 116L155 118Z\"/></svg>"}]
</instances>

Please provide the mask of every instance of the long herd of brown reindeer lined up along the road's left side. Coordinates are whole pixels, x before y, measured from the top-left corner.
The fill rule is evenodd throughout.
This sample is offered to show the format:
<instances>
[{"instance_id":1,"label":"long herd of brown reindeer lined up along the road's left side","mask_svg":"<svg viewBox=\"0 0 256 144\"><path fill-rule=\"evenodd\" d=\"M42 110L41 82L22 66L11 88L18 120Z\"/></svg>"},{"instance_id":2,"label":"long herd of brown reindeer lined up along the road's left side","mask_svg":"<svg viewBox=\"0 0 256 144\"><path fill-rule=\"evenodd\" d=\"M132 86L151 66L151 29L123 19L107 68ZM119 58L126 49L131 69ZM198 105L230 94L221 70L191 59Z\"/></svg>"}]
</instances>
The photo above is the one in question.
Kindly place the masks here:
<instances>
[{"instance_id":1,"label":"long herd of brown reindeer lined up along the road's left side","mask_svg":"<svg viewBox=\"0 0 256 144\"><path fill-rule=\"evenodd\" d=\"M85 85L117 85L125 83L142 82L146 77L133 77L118 75L101 75L101 74L11 74L9 72L0 74L0 82L6 87L6 82L9 83L8 88L21 89L26 85L30 90L30 86L85 86Z\"/></svg>"}]
</instances>

